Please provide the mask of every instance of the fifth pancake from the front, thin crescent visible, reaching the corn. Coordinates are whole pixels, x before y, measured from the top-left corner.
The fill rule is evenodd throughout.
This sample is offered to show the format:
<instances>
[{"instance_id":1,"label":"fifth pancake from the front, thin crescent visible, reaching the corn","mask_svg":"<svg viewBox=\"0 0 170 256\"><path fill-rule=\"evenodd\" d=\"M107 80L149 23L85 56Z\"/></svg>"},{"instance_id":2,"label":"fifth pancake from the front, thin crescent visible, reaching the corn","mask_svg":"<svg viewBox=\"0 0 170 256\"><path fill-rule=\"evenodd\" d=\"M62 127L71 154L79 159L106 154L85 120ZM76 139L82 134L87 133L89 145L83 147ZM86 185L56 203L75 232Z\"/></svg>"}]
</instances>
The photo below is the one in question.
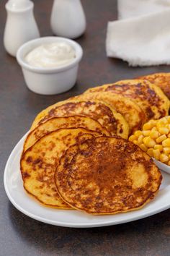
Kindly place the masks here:
<instances>
[{"instance_id":1,"label":"fifth pancake from the front, thin crescent visible, reaching the corn","mask_svg":"<svg viewBox=\"0 0 170 256\"><path fill-rule=\"evenodd\" d=\"M79 101L100 101L109 104L115 111L122 114L130 127L130 134L133 134L138 129L143 127L146 122L146 114L138 106L137 103L131 101L130 98L126 98L122 95L115 93L99 92L99 93L84 93L73 97L71 99Z\"/></svg>"}]
</instances>

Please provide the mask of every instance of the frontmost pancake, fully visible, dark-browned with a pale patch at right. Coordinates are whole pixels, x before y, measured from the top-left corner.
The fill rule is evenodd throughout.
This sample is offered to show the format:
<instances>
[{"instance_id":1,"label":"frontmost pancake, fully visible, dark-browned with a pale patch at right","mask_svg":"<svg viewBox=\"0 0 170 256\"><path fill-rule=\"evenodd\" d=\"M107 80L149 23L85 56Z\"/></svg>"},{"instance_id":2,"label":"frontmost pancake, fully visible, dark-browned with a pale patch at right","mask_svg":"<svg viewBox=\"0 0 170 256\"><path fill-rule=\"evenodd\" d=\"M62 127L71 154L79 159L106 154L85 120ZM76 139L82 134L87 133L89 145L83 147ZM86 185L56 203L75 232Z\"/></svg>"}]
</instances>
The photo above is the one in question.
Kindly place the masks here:
<instances>
[{"instance_id":1,"label":"frontmost pancake, fully visible, dark-browned with a pale patch at right","mask_svg":"<svg viewBox=\"0 0 170 256\"><path fill-rule=\"evenodd\" d=\"M71 146L55 171L63 200L97 215L143 207L158 192L161 178L151 158L120 137L93 137Z\"/></svg>"}]
</instances>

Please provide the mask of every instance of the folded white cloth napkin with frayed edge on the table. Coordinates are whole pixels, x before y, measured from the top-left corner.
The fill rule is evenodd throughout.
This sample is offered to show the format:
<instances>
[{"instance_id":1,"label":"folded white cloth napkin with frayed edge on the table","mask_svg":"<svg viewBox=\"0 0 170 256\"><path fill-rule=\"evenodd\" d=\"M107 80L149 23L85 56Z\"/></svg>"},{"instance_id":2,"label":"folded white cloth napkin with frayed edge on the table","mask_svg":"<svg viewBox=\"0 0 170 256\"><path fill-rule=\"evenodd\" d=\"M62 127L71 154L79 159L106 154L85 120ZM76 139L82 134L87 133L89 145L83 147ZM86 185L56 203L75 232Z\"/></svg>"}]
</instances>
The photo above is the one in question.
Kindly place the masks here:
<instances>
[{"instance_id":1,"label":"folded white cloth napkin with frayed edge on the table","mask_svg":"<svg viewBox=\"0 0 170 256\"><path fill-rule=\"evenodd\" d=\"M170 0L119 0L118 13L122 20L107 25L107 56L134 67L170 64Z\"/></svg>"}]
</instances>

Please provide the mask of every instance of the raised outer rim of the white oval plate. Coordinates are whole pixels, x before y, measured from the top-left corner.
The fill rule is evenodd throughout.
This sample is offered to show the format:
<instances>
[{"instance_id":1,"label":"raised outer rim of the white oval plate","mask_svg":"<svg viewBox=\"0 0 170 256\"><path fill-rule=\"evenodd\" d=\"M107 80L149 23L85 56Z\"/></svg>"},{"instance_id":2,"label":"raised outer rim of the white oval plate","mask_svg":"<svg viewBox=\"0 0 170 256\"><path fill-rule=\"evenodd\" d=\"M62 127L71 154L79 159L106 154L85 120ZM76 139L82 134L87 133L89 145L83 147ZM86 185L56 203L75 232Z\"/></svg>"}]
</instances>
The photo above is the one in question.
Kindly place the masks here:
<instances>
[{"instance_id":1,"label":"raised outer rim of the white oval plate","mask_svg":"<svg viewBox=\"0 0 170 256\"><path fill-rule=\"evenodd\" d=\"M140 213L138 216L132 216L132 217L130 217L128 219L124 219L122 221L121 220L120 221L109 220L109 221L103 221L103 222L100 221L99 223L71 223L71 222L63 222L63 221L53 221L53 220L50 220L49 218L42 218L41 216L37 216L35 214L30 213L27 210L24 210L24 208L22 208L22 206L18 205L18 203L15 202L14 198L12 197L11 193L9 192L8 185L6 183L6 174L8 172L9 164L12 161L12 155L17 150L17 148L19 147L19 144L22 143L22 140L24 140L24 138L27 136L28 133L29 132L27 132L14 146L12 152L9 155L8 160L6 161L6 165L4 168L4 189L5 189L6 195L9 198L9 201L12 202L12 205L14 205L14 207L17 208L17 210L19 210L24 215L26 215L30 218L33 218L36 221L40 221L42 223L47 223L47 224L50 224L53 226L63 226L63 227L70 227L70 228L94 228L94 227L102 227L102 226L115 226L115 225L118 225L121 223L138 221L142 218L153 216L157 213L161 213L162 211L170 208L170 202L169 202L169 204L164 205L161 208L156 208L156 210L152 210L152 212L148 212L148 213L146 212L146 213L142 213L142 214ZM114 215L112 215L112 216L114 216Z\"/></svg>"}]
</instances>

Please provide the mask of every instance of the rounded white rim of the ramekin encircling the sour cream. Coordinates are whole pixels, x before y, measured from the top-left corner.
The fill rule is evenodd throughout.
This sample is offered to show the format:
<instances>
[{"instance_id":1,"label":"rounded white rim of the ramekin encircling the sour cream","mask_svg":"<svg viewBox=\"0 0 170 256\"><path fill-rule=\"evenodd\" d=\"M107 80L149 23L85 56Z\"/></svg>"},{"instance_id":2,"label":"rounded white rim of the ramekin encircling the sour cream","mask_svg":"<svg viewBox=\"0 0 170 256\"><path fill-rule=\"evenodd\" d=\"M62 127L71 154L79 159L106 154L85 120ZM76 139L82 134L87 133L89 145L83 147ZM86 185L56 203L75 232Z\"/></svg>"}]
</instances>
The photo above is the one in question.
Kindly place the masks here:
<instances>
[{"instance_id":1,"label":"rounded white rim of the ramekin encircling the sour cream","mask_svg":"<svg viewBox=\"0 0 170 256\"><path fill-rule=\"evenodd\" d=\"M53 43L55 41L60 41L60 42L63 41L63 42L69 43L74 48L74 50L76 51L76 58L73 59L71 63L64 64L60 67L47 68L47 67L33 67L32 65L24 61L25 54L32 51L33 48L41 45L42 43L50 43L50 42ZM27 53L24 53L24 51L27 51ZM46 37L30 40L27 43L24 43L22 46L20 46L19 49L17 50L17 62L22 68L30 70L35 73L42 73L42 74L58 73L58 72L63 72L65 70L71 69L71 67L74 67L76 66L76 64L79 63L82 56L83 56L83 49L81 48L79 43L76 43L76 41L74 40L58 37L58 36L46 36Z\"/></svg>"}]
</instances>

